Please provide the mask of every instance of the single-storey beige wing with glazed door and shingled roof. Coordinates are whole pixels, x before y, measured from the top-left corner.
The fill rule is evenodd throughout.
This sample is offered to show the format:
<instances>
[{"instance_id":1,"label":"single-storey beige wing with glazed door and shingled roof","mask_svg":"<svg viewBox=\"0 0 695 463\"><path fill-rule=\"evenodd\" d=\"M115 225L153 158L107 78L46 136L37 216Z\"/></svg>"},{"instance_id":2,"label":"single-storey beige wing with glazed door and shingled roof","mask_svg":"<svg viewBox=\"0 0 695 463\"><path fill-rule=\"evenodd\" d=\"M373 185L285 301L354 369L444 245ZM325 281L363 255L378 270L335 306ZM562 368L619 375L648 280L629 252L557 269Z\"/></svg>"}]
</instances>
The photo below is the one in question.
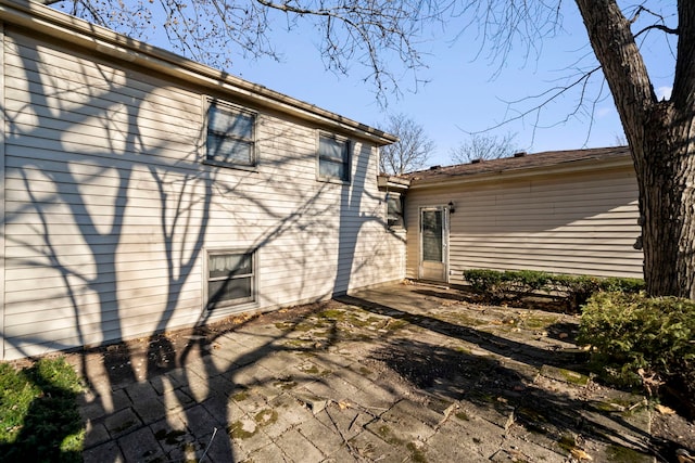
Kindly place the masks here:
<instances>
[{"instance_id":1,"label":"single-storey beige wing with glazed door and shingled roof","mask_svg":"<svg viewBox=\"0 0 695 463\"><path fill-rule=\"evenodd\" d=\"M466 269L642 278L627 147L518 154L381 182L391 201L405 196L409 279L462 284Z\"/></svg>"}]
</instances>

